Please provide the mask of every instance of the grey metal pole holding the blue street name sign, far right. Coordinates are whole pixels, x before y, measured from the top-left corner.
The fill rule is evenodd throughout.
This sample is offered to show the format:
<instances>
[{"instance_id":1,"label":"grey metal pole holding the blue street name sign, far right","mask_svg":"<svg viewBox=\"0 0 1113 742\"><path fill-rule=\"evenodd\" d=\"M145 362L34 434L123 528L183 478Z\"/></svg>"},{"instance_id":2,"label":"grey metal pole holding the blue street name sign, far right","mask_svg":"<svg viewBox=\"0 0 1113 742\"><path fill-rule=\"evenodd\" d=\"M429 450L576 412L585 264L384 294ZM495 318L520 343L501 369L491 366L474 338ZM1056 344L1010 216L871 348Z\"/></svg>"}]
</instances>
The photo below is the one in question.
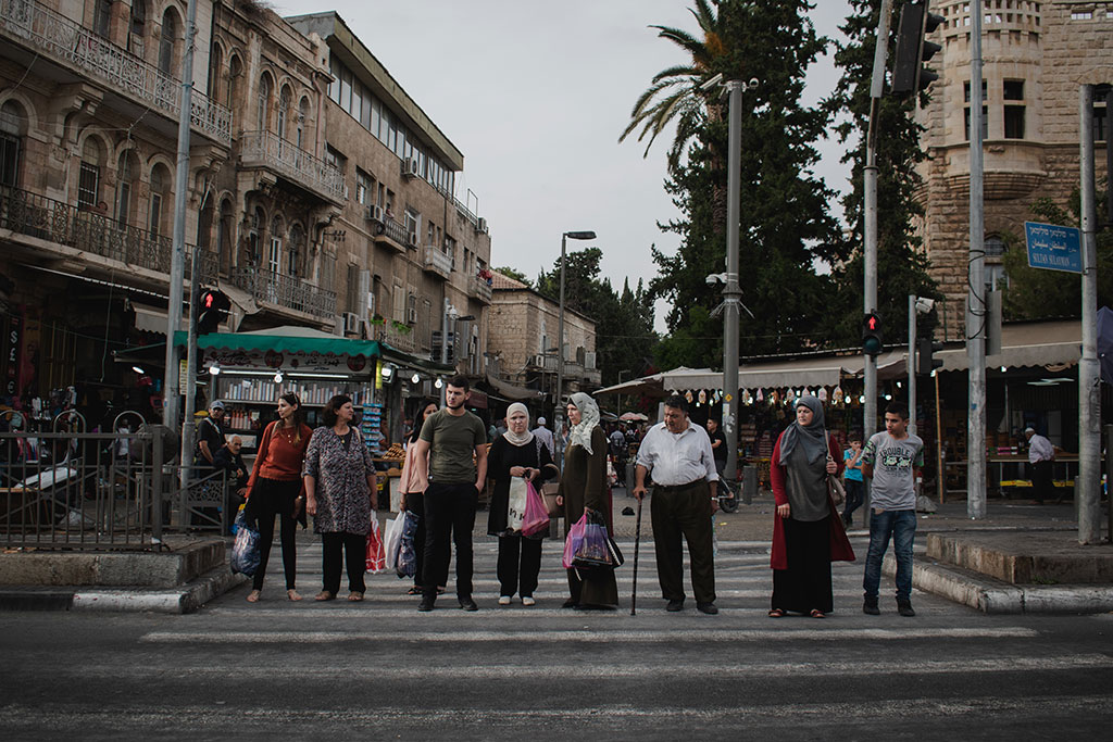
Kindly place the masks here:
<instances>
[{"instance_id":1,"label":"grey metal pole holding the blue street name sign, far right","mask_svg":"<svg viewBox=\"0 0 1113 742\"><path fill-rule=\"evenodd\" d=\"M1078 477L1074 502L1078 543L1102 540L1101 398L1097 368L1097 207L1094 192L1094 86L1080 87L1082 172L1082 359L1078 362ZM1107 142L1106 142L1107 144Z\"/></svg>"}]
</instances>

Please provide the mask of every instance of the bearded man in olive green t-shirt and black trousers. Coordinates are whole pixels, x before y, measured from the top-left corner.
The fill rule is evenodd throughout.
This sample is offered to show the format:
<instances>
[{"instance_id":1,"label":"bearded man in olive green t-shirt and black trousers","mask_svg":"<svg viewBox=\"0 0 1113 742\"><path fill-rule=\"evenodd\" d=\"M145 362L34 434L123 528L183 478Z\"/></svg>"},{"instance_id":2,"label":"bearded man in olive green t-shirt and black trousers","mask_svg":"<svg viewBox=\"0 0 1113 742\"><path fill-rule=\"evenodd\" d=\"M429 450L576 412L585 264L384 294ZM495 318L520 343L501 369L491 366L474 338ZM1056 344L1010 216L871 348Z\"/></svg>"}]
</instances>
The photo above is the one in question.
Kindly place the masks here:
<instances>
[{"instance_id":1,"label":"bearded man in olive green t-shirt and black trousers","mask_svg":"<svg viewBox=\"0 0 1113 742\"><path fill-rule=\"evenodd\" d=\"M456 597L460 607L477 611L472 600L472 528L475 506L486 482L486 429L483 421L464 409L465 376L449 382L445 408L425 419L414 444L417 476L425 477L425 567L418 611L432 611L436 586L449 580L449 538L455 532ZM427 454L427 459L426 459ZM475 463L472 463L472 455ZM427 471L426 471L426 464Z\"/></svg>"}]
</instances>

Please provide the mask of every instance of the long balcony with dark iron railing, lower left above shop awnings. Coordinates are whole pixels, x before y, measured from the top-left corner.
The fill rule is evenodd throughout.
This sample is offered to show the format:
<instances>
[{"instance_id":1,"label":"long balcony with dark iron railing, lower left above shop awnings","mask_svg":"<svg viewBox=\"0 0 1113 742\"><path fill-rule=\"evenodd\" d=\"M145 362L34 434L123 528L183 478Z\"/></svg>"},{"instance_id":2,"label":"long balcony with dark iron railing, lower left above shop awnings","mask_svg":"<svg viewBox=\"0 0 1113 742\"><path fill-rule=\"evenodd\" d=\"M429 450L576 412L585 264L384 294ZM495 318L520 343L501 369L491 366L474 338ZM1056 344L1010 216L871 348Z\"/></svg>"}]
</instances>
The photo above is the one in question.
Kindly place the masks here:
<instances>
[{"instance_id":1,"label":"long balcony with dark iron railing, lower left above shop awnings","mask_svg":"<svg viewBox=\"0 0 1113 742\"><path fill-rule=\"evenodd\" d=\"M0 229L99 255L119 263L119 269L126 266L142 268L159 274L159 277L169 277L170 274L173 240L169 237L121 225L110 217L20 188L0 187ZM186 255L191 254L193 246L186 245ZM59 257L71 256L60 251ZM216 279L215 254L201 251L200 267L201 281ZM189 260L186 260L187 278L189 270ZM128 271L125 269L122 273Z\"/></svg>"}]
</instances>

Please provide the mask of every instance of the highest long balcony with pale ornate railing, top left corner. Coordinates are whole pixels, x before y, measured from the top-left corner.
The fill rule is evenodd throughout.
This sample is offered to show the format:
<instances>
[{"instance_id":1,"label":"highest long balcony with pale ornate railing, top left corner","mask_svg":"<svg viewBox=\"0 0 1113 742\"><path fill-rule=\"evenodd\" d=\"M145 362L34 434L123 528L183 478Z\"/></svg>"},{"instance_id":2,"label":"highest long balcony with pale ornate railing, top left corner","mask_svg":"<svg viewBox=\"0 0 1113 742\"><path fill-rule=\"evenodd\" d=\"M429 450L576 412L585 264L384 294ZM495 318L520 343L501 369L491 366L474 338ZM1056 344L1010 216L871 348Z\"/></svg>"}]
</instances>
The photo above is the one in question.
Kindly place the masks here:
<instances>
[{"instance_id":1,"label":"highest long balcony with pale ornate railing, top left corner","mask_svg":"<svg viewBox=\"0 0 1113 742\"><path fill-rule=\"evenodd\" d=\"M33 0L0 0L0 31L37 56L108 85L109 93L130 98L140 110L154 108L177 122L181 81L80 23ZM196 89L189 108L193 128L223 145L232 142L232 111Z\"/></svg>"}]
</instances>

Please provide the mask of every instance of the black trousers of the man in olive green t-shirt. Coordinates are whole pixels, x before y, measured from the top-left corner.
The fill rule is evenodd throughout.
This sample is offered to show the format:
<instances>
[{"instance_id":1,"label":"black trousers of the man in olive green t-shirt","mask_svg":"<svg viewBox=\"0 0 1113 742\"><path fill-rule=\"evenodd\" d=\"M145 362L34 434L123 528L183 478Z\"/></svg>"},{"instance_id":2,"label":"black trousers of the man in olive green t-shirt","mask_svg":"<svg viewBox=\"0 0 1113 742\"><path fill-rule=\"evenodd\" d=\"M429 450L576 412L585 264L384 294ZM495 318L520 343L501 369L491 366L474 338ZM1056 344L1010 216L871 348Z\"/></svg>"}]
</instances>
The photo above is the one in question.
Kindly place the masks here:
<instances>
[{"instance_id":1,"label":"black trousers of the man in olive green t-shirt","mask_svg":"<svg viewBox=\"0 0 1113 742\"><path fill-rule=\"evenodd\" d=\"M456 595L472 596L472 528L479 493L471 483L431 484L425 489L425 564L422 590L436 595L449 581L450 538L456 544Z\"/></svg>"}]
</instances>

